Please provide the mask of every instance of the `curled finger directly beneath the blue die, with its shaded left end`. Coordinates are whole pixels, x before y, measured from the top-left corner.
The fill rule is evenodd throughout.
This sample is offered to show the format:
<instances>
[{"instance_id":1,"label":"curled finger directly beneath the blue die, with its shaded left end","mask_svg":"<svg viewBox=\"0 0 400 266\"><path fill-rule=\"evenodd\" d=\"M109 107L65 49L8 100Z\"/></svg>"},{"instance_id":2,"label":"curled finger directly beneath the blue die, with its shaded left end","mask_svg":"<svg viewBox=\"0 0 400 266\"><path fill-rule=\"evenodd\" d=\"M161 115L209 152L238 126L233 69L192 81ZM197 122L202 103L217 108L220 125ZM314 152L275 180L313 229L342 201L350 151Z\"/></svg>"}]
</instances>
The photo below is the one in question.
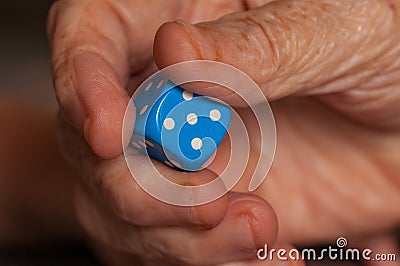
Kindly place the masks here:
<instances>
[{"instance_id":1,"label":"curled finger directly beneath the blue die, with its shaded left end","mask_svg":"<svg viewBox=\"0 0 400 266\"><path fill-rule=\"evenodd\" d=\"M209 204L179 207L161 202L146 193L132 178L125 159L119 156L113 160L102 160L89 149L81 136L67 123L59 122L60 142L65 156L79 169L88 189L98 195L121 219L142 226L186 226L191 228L212 228L224 217L227 196ZM144 156L137 155L137 165L145 165ZM158 162L155 162L158 163ZM139 167L138 167L139 168ZM147 167L136 169L142 177L154 179L154 171ZM200 185L215 179L209 170L196 173L178 172L161 163L158 170L167 179L179 184ZM221 186L222 182L215 183ZM196 199L198 195L194 194Z\"/></svg>"}]
</instances>

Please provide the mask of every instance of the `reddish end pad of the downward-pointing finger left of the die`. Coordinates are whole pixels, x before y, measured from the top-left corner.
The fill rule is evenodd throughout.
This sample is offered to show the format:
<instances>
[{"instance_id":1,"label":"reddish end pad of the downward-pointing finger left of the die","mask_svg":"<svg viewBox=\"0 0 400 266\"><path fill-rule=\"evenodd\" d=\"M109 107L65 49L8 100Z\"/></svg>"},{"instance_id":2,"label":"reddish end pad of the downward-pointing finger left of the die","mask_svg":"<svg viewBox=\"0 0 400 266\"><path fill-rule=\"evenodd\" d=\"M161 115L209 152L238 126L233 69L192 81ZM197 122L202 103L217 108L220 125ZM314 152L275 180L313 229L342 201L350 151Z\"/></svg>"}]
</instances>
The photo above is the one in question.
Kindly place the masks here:
<instances>
[{"instance_id":1,"label":"reddish end pad of the downward-pointing finger left of the die","mask_svg":"<svg viewBox=\"0 0 400 266\"><path fill-rule=\"evenodd\" d=\"M128 96L112 67L100 56L75 57L77 96L86 111L83 132L93 151L109 159L122 153L122 122Z\"/></svg>"}]
</instances>

